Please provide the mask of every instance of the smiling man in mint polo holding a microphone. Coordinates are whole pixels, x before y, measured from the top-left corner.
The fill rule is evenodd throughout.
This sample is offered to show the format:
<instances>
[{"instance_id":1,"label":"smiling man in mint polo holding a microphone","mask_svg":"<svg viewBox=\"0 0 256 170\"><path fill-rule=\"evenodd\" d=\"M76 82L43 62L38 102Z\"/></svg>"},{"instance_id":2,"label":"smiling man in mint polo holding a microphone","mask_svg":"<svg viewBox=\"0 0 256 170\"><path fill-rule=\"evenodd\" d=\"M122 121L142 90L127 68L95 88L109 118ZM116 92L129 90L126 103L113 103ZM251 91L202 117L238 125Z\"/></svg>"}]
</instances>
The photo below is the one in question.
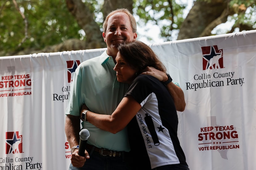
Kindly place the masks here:
<instances>
[{"instance_id":1,"label":"smiling man in mint polo holding a microphone","mask_svg":"<svg viewBox=\"0 0 256 170\"><path fill-rule=\"evenodd\" d=\"M126 129L113 134L84 121L82 126L89 130L90 137L85 157L78 155L82 105L86 104L95 113L111 114L128 88L128 84L117 81L113 68L118 44L131 42L137 38L135 18L126 9L112 11L106 17L103 29L102 36L107 44L107 50L101 56L82 62L76 69L72 81L65 122L67 140L72 147L70 169L131 169L128 164L130 146ZM183 91L171 82L166 73L148 68L143 74L153 75L165 82L176 109L184 110Z\"/></svg>"}]
</instances>

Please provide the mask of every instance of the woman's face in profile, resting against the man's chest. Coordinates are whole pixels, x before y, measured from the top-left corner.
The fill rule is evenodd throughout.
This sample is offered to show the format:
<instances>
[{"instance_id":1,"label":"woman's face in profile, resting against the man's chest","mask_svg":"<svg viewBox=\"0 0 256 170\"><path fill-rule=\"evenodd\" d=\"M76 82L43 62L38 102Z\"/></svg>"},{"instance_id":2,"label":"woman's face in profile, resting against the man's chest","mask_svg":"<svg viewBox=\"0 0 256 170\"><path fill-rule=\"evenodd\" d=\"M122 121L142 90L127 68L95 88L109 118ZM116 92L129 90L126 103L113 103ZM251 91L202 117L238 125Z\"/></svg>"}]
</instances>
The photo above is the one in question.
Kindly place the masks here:
<instances>
[{"instance_id":1,"label":"woman's face in profile, resting against the man's chest","mask_svg":"<svg viewBox=\"0 0 256 170\"><path fill-rule=\"evenodd\" d=\"M136 70L129 66L119 52L117 53L116 62L114 71L117 72L117 81L130 84L136 77Z\"/></svg>"}]
</instances>

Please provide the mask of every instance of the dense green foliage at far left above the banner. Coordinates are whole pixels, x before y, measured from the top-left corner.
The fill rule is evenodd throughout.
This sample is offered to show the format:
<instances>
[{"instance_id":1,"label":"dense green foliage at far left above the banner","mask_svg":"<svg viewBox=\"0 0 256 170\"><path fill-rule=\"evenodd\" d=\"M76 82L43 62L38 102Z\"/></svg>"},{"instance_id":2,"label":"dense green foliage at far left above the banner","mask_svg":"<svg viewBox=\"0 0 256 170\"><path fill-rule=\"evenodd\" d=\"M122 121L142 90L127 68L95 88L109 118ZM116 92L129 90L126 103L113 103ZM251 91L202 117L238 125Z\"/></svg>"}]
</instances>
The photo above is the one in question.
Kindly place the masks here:
<instances>
[{"instance_id":1,"label":"dense green foliage at far left above the banner","mask_svg":"<svg viewBox=\"0 0 256 170\"><path fill-rule=\"evenodd\" d=\"M74 17L69 13L64 0L17 0L19 10L26 17L25 21L15 8L13 1L1 1L4 6L0 15L0 51L15 52L23 48L42 49L48 45L63 42L69 38L80 38L80 30Z\"/></svg>"}]
</instances>

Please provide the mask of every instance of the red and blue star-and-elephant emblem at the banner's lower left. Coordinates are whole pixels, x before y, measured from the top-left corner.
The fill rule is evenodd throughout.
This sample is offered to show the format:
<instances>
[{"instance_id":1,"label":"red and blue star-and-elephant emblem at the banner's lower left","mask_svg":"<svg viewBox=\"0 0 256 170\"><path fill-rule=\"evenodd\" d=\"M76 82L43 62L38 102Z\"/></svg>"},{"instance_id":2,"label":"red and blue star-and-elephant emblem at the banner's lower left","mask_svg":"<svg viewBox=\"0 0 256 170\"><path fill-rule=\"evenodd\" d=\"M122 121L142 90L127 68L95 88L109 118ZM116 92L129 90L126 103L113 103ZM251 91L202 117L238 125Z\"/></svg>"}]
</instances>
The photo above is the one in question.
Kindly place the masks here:
<instances>
[{"instance_id":1,"label":"red and blue star-and-elephant emblem at the banner's lower left","mask_svg":"<svg viewBox=\"0 0 256 170\"><path fill-rule=\"evenodd\" d=\"M22 153L22 135L19 132L6 132L5 153Z\"/></svg>"}]
</instances>

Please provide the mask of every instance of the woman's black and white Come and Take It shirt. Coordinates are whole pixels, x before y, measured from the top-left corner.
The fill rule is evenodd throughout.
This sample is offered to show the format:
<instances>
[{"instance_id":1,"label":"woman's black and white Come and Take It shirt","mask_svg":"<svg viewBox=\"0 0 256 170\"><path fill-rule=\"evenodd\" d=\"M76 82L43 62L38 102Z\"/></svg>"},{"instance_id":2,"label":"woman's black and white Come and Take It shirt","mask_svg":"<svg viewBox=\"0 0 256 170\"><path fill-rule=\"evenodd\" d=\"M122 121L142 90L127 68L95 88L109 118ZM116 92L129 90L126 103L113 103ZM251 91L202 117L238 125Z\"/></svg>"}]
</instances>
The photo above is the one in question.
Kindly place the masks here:
<instances>
[{"instance_id":1,"label":"woman's black and white Come and Take It shirt","mask_svg":"<svg viewBox=\"0 0 256 170\"><path fill-rule=\"evenodd\" d=\"M131 153L138 166L151 169L187 164L177 137L176 108L164 84L153 76L139 75L126 95L131 95L142 106L128 124Z\"/></svg>"}]
</instances>

